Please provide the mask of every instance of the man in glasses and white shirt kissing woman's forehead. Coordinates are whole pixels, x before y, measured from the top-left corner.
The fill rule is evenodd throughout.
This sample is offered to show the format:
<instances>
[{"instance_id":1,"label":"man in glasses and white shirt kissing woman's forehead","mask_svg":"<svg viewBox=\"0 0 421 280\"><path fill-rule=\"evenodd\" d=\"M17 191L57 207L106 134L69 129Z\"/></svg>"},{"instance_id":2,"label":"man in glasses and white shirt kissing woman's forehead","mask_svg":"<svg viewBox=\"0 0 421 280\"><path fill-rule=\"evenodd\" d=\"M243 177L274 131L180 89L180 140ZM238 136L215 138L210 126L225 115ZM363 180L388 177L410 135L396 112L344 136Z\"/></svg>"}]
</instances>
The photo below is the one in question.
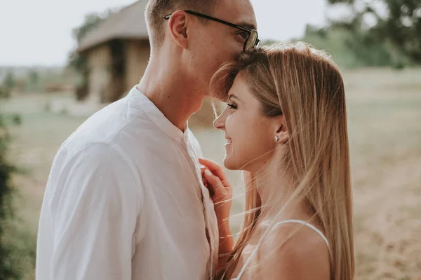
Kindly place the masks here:
<instances>
[{"instance_id":1,"label":"man in glasses and white shirt kissing woman's forehead","mask_svg":"<svg viewBox=\"0 0 421 280\"><path fill-rule=\"evenodd\" d=\"M140 84L86 120L55 156L39 280L210 279L218 253L232 247L219 244L187 120L218 66L258 43L253 7L150 0L145 15L151 57Z\"/></svg>"}]
</instances>

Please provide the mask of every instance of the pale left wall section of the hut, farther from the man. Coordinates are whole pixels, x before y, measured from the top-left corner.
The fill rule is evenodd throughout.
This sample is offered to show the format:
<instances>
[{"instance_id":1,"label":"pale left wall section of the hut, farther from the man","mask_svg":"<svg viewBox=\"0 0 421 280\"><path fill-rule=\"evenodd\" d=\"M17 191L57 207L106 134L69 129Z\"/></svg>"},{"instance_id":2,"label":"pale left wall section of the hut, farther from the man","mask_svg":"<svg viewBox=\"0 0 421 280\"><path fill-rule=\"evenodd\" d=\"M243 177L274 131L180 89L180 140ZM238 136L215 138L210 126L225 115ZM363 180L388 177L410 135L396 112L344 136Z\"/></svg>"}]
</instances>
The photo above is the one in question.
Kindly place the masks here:
<instances>
[{"instance_id":1,"label":"pale left wall section of the hut, farther from the man","mask_svg":"<svg viewBox=\"0 0 421 280\"><path fill-rule=\"evenodd\" d=\"M101 94L109 87L111 53L109 45L99 45L87 52L88 58L88 100L101 102Z\"/></svg>"}]
</instances>

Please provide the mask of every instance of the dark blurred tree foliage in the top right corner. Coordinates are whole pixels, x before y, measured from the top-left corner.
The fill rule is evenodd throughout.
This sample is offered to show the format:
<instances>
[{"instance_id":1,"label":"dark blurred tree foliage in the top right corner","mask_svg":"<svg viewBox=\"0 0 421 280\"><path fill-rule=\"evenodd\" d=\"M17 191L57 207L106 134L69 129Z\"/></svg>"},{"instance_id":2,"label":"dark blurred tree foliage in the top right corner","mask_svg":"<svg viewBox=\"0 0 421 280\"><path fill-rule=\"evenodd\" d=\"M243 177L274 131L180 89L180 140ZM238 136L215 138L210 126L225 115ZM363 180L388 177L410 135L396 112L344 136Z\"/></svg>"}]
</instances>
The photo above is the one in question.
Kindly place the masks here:
<instances>
[{"instance_id":1,"label":"dark blurred tree foliage in the top right corner","mask_svg":"<svg viewBox=\"0 0 421 280\"><path fill-rule=\"evenodd\" d=\"M356 34L354 42L386 43L392 50L421 64L421 0L328 0L328 3L349 9L350 16L335 20L333 25ZM375 19L374 25L364 21L367 16Z\"/></svg>"}]
</instances>

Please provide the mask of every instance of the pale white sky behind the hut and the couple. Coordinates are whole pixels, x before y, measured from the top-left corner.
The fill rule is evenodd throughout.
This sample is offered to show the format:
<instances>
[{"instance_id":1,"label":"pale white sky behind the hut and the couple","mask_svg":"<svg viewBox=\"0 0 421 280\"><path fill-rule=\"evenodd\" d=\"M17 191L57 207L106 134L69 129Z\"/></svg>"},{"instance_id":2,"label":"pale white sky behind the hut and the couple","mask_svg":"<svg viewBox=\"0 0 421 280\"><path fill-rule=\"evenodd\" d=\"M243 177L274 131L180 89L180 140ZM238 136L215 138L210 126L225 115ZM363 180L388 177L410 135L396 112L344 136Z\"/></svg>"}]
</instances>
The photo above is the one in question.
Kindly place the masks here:
<instances>
[{"instance_id":1,"label":"pale white sky behind the hut and the couple","mask_svg":"<svg viewBox=\"0 0 421 280\"><path fill-rule=\"evenodd\" d=\"M134 0L0 0L0 66L62 66L84 15ZM251 0L263 40L286 41L323 25L326 0Z\"/></svg>"}]
</instances>

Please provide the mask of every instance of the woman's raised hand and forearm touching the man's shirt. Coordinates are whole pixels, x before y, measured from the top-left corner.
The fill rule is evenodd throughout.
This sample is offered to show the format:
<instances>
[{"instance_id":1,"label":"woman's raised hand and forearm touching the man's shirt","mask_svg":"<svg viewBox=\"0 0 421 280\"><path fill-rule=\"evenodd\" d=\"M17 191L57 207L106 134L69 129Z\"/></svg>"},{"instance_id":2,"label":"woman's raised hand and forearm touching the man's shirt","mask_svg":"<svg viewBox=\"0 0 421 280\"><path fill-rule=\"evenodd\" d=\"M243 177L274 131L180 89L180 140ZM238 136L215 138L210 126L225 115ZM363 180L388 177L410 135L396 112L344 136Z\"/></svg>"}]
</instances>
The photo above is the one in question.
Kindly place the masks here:
<instances>
[{"instance_id":1,"label":"woman's raised hand and forearm touching the man's shirt","mask_svg":"<svg viewBox=\"0 0 421 280\"><path fill-rule=\"evenodd\" d=\"M199 158L203 167L201 174L203 183L208 188L215 207L215 214L218 218L219 230L219 252L226 253L232 251L234 240L229 229L229 211L232 204L232 187L229 184L224 169L218 163L205 158Z\"/></svg>"}]
</instances>

